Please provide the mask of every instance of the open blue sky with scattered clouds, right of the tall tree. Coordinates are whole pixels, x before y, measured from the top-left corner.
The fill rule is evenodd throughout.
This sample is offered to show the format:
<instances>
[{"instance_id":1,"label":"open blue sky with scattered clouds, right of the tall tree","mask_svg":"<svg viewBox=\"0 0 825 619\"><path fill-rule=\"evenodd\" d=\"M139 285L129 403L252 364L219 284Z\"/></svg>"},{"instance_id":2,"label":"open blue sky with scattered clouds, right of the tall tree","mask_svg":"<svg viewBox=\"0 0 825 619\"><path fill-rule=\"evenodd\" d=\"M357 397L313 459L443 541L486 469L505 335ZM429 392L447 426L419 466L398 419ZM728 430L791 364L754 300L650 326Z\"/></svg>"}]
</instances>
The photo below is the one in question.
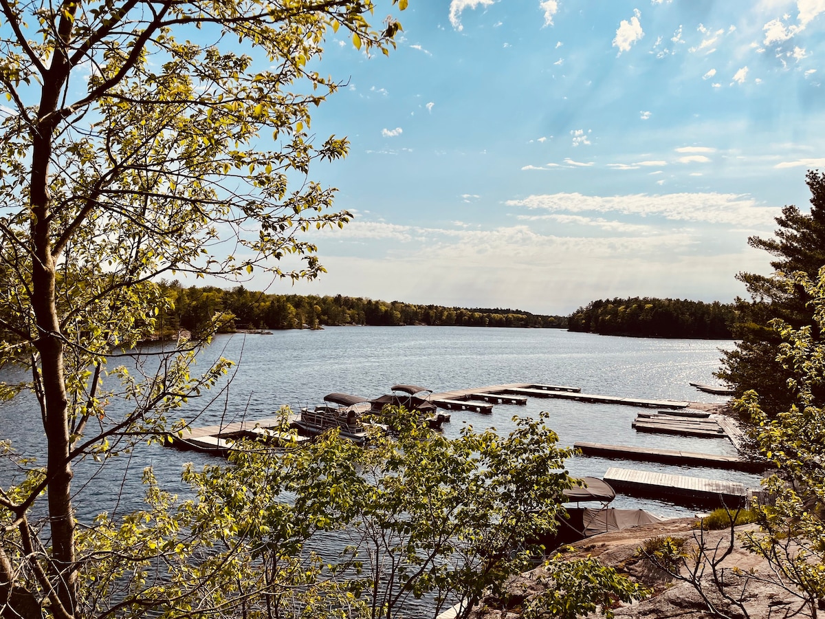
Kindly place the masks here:
<instances>
[{"instance_id":1,"label":"open blue sky with scattered clouds, right of the tall tree","mask_svg":"<svg viewBox=\"0 0 825 619\"><path fill-rule=\"evenodd\" d=\"M312 129L351 154L311 176L356 218L313 237L327 274L271 292L543 314L729 301L737 272L769 271L747 237L807 208L804 173L825 169L825 0L410 0L398 17L389 58L328 40L320 69L348 83Z\"/></svg>"}]
</instances>

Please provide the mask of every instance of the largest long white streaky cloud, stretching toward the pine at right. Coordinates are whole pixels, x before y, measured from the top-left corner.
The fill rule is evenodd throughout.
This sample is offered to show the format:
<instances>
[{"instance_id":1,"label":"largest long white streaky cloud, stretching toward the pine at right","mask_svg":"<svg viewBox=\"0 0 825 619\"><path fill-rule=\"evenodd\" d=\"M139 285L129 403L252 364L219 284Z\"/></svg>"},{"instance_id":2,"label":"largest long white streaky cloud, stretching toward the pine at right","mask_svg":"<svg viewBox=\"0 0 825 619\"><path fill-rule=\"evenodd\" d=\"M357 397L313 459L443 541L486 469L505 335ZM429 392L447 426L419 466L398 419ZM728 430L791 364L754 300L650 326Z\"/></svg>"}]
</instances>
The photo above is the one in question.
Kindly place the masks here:
<instances>
[{"instance_id":1,"label":"largest long white streaky cloud, stretching toward the pine at right","mask_svg":"<svg viewBox=\"0 0 825 619\"><path fill-rule=\"evenodd\" d=\"M581 193L556 193L509 200L507 206L555 213L620 213L622 215L662 216L666 220L705 222L709 224L774 224L780 211L775 207L757 206L747 195L732 193L671 193L662 195L631 194L625 196L584 196Z\"/></svg>"}]
</instances>

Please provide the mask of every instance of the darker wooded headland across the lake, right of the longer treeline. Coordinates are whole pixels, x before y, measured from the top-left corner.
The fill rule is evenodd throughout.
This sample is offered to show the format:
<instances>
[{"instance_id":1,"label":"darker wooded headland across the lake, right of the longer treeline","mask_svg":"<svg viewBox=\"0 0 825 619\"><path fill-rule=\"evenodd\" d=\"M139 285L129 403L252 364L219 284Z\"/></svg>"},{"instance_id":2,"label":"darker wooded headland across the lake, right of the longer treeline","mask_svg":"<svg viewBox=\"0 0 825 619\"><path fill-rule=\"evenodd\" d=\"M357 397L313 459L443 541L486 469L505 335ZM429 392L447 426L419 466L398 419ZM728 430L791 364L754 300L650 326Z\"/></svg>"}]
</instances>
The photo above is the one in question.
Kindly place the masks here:
<instances>
[{"instance_id":1,"label":"darker wooded headland across the lake, right of the longer treeline","mask_svg":"<svg viewBox=\"0 0 825 619\"><path fill-rule=\"evenodd\" d=\"M733 338L733 304L680 299L596 300L568 318L570 331L640 338Z\"/></svg>"}]
</instances>

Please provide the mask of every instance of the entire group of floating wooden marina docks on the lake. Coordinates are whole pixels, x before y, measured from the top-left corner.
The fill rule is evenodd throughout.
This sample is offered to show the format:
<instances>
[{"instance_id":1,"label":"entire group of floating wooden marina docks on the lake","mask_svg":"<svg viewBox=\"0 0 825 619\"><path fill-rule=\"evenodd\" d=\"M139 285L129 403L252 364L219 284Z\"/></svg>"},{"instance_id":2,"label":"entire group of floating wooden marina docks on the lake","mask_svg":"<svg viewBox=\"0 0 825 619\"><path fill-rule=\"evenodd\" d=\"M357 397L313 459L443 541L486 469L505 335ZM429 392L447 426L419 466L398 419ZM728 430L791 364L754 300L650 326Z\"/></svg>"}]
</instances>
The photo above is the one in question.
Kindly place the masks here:
<instances>
[{"instance_id":1,"label":"entire group of floating wooden marina docks on the lake","mask_svg":"<svg viewBox=\"0 0 825 619\"><path fill-rule=\"evenodd\" d=\"M697 389L709 391L708 385L693 384ZM396 385L415 387L415 385ZM395 388L394 388L395 389ZM417 388L422 389L422 388ZM719 391L722 391L719 388ZM412 393L410 397L412 397ZM340 394L336 394L339 395ZM355 397L355 396L353 396ZM570 399L588 403L618 404L646 409L661 409L654 413L639 413L633 422L637 432L657 432L709 439L727 439L739 449L742 432L733 419L723 415L711 415L695 409L688 409L690 402L662 399L626 398L611 395L582 394L581 389L567 385L542 385L535 383L511 383L490 385L463 390L431 393L427 401L439 409L470 411L489 414L495 404L526 404L528 398ZM282 417L262 418L214 425L204 428L188 428L182 435L169 437L172 447L193 449L217 454L225 454L233 448L239 438L262 437L278 444L295 444L308 440L298 432L284 432ZM286 420L295 423L298 415ZM647 447L603 445L592 442L577 442L575 447L582 456L596 456L611 460L658 462L670 465L700 466L706 468L741 470L760 473L764 463L749 461L738 456L718 456L713 454L677 450L651 449ZM666 475L644 470L610 467L605 478L622 494L663 499L672 503L703 507L738 507L749 500L755 492L743 484L706 480L684 475Z\"/></svg>"}]
</instances>

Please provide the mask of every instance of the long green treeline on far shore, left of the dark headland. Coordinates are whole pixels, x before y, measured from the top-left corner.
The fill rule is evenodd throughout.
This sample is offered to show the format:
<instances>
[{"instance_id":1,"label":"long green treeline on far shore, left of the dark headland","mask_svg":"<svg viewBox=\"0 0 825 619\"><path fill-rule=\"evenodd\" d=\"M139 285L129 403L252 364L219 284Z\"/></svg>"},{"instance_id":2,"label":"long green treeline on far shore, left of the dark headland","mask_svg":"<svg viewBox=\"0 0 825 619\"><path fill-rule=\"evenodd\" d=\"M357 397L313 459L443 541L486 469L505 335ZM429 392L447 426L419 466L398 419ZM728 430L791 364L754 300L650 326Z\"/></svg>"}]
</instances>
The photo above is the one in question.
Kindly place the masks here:
<instances>
[{"instance_id":1,"label":"long green treeline on far shore, left of the dark headland","mask_svg":"<svg viewBox=\"0 0 825 619\"><path fill-rule=\"evenodd\" d=\"M161 316L165 334L186 329L198 333L214 316L221 330L321 328L345 324L393 326L429 324L460 327L564 328L564 316L530 314L520 309L465 309L442 305L413 305L352 296L270 295L243 286L223 290L214 286L184 288L163 283L172 309Z\"/></svg>"}]
</instances>

